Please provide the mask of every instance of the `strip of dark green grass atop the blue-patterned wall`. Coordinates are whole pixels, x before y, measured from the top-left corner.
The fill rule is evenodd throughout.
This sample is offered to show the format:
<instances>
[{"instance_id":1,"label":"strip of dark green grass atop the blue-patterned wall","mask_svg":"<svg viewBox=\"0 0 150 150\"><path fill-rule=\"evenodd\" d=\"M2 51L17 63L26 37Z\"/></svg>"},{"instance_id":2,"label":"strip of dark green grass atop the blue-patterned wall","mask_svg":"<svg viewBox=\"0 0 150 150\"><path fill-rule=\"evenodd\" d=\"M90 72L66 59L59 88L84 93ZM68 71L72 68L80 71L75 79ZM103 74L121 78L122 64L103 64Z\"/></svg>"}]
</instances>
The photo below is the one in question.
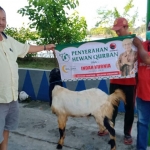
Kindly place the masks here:
<instances>
[{"instance_id":1,"label":"strip of dark green grass atop the blue-patterned wall","mask_svg":"<svg viewBox=\"0 0 150 150\"><path fill-rule=\"evenodd\" d=\"M57 66L54 58L18 58L17 63L19 68L34 68L43 70L51 70Z\"/></svg>"}]
</instances>

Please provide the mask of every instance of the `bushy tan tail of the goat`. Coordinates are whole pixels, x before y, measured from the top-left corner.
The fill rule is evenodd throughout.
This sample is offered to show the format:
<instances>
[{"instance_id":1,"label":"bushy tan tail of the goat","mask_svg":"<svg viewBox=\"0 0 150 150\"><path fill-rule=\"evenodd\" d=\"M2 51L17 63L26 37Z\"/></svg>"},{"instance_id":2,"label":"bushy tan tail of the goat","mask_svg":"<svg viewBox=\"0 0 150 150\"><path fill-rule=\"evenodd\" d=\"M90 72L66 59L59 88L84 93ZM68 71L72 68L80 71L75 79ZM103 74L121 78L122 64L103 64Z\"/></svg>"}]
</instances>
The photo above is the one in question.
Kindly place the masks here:
<instances>
[{"instance_id":1,"label":"bushy tan tail of the goat","mask_svg":"<svg viewBox=\"0 0 150 150\"><path fill-rule=\"evenodd\" d=\"M119 105L120 100L122 100L126 104L125 93L121 89L117 89L114 93L110 95L110 100L115 106Z\"/></svg>"}]
</instances>

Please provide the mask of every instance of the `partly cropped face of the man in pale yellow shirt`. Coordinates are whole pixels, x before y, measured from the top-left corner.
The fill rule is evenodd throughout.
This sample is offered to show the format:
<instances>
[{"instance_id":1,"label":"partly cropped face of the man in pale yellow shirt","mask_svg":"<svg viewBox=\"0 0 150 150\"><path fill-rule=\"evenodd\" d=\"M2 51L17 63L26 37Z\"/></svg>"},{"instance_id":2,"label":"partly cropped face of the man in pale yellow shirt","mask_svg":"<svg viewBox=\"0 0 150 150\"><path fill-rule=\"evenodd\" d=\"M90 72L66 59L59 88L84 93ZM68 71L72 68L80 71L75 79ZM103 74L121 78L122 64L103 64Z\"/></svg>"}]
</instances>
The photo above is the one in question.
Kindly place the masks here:
<instances>
[{"instance_id":1,"label":"partly cropped face of the man in pale yellow shirt","mask_svg":"<svg viewBox=\"0 0 150 150\"><path fill-rule=\"evenodd\" d=\"M6 14L3 10L0 10L0 32L3 32L6 28Z\"/></svg>"}]
</instances>

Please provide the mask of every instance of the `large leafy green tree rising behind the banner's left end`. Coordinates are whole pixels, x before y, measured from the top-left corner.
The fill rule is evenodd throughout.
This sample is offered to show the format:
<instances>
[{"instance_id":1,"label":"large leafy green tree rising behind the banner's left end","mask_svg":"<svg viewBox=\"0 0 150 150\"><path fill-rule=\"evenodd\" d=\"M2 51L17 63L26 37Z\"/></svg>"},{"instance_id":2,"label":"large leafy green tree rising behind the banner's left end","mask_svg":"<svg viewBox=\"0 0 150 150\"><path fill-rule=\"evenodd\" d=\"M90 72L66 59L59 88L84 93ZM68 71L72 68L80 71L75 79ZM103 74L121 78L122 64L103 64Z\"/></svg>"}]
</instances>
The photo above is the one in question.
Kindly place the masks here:
<instances>
[{"instance_id":1,"label":"large leafy green tree rising behind the banner's left end","mask_svg":"<svg viewBox=\"0 0 150 150\"><path fill-rule=\"evenodd\" d=\"M31 20L30 27L35 28L42 44L74 43L86 37L87 24L75 12L71 16L67 11L79 5L78 0L28 0L29 5L18 10L22 16Z\"/></svg>"}]
</instances>

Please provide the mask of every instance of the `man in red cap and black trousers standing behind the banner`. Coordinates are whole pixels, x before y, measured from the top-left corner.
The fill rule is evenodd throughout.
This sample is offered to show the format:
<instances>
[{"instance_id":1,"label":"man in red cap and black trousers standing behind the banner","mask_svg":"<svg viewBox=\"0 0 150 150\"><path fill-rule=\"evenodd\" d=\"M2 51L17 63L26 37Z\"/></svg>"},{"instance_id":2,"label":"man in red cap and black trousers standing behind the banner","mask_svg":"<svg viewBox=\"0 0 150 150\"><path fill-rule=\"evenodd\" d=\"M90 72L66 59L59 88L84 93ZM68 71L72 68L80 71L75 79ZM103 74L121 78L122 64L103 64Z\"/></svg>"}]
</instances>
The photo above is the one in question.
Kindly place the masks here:
<instances>
[{"instance_id":1,"label":"man in red cap and black trousers standing behind the banner","mask_svg":"<svg viewBox=\"0 0 150 150\"><path fill-rule=\"evenodd\" d=\"M130 35L128 21L123 17L119 17L114 21L112 30L114 30L118 36ZM133 142L131 129L134 121L136 78L111 79L109 93L112 94L118 88L122 89L126 95L126 105L124 106L124 144L130 145ZM117 114L118 107L114 107L112 118L114 125ZM103 136L107 133L107 130L99 131L98 135Z\"/></svg>"}]
</instances>

